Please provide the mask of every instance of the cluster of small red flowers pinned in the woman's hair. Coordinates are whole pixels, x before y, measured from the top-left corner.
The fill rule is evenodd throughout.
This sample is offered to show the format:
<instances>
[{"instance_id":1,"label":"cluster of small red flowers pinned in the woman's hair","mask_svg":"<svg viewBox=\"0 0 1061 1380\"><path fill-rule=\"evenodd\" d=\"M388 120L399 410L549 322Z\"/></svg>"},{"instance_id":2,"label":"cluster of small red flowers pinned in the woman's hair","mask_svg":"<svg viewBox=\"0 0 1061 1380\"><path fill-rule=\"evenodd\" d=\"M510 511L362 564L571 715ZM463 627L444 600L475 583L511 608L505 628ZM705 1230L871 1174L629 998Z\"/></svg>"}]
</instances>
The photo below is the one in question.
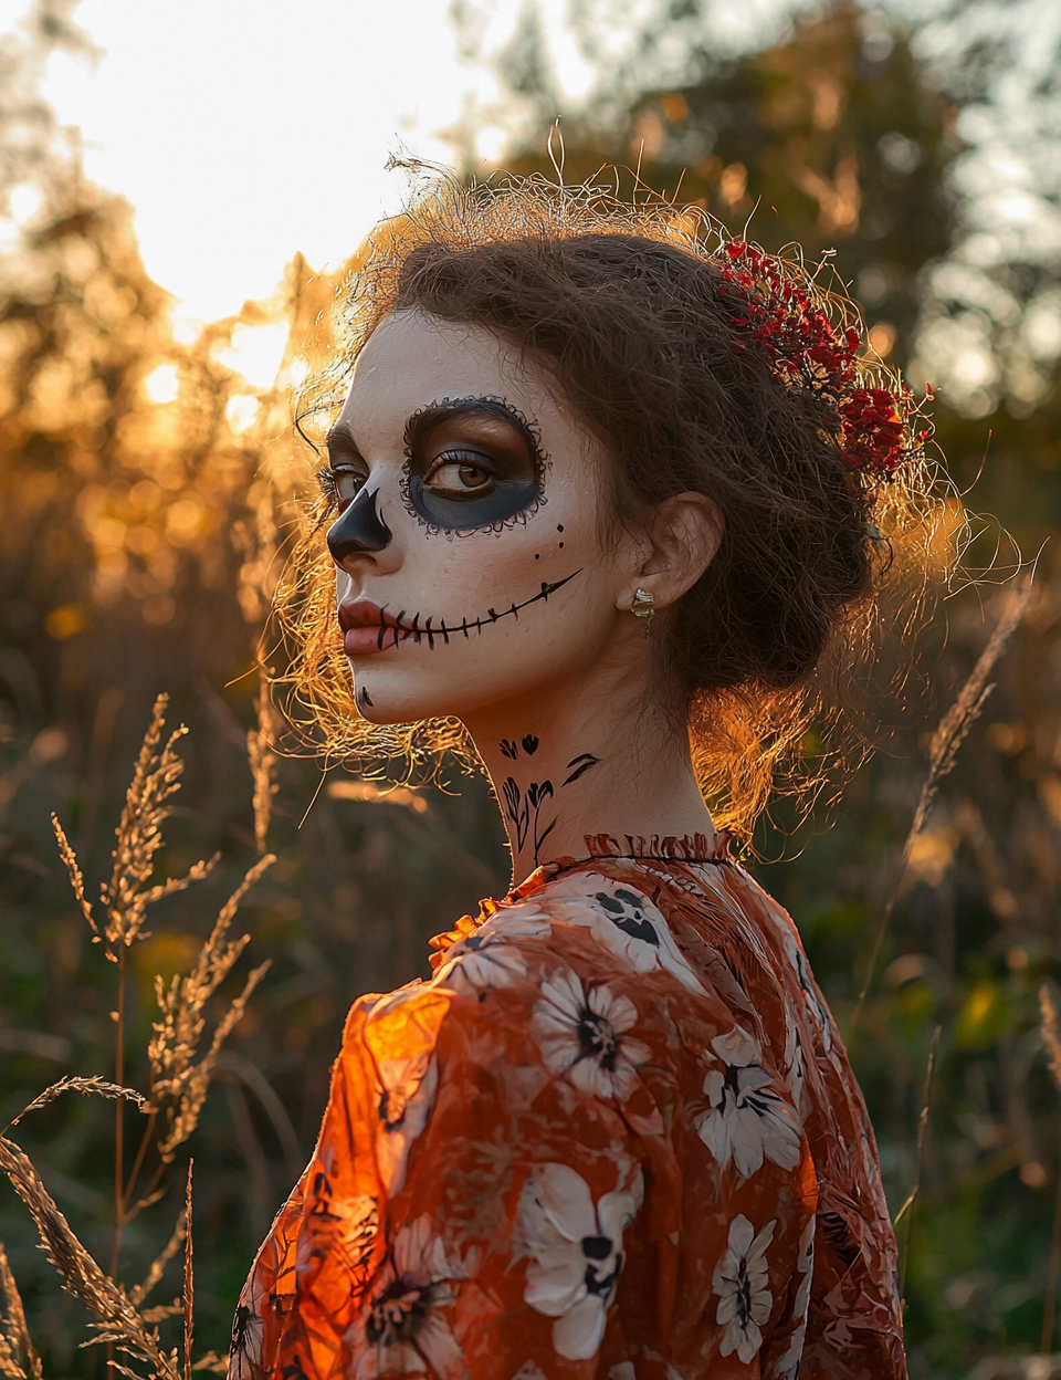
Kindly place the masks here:
<instances>
[{"instance_id":1,"label":"cluster of small red flowers pinned in the woman's hair","mask_svg":"<svg viewBox=\"0 0 1061 1380\"><path fill-rule=\"evenodd\" d=\"M900 466L923 454L930 429L915 432L920 407L895 375L858 357L861 337L854 326L836 327L826 298L795 265L766 254L745 240L723 248L717 269L740 290L744 316L734 326L771 363L781 382L806 388L833 422L840 451L851 469L887 482ZM744 349L745 341L737 344Z\"/></svg>"}]
</instances>

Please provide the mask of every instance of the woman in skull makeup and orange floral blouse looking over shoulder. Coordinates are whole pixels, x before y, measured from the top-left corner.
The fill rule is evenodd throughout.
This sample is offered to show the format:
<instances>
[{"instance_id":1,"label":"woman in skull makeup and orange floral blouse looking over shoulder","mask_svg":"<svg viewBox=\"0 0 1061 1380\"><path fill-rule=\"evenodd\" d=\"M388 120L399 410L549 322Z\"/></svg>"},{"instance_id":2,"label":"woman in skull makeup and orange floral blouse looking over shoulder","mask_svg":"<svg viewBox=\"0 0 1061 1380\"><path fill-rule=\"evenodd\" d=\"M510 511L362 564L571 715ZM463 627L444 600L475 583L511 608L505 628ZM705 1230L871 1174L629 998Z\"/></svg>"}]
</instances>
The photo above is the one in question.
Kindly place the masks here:
<instances>
[{"instance_id":1,"label":"woman in skull makeup and orange floral blouse looking over shoulder","mask_svg":"<svg viewBox=\"0 0 1061 1380\"><path fill-rule=\"evenodd\" d=\"M355 1003L237 1380L905 1374L861 1094L705 805L748 828L929 511L909 395L828 312L534 182L370 246L295 680L334 753L477 753L519 885Z\"/></svg>"}]
</instances>

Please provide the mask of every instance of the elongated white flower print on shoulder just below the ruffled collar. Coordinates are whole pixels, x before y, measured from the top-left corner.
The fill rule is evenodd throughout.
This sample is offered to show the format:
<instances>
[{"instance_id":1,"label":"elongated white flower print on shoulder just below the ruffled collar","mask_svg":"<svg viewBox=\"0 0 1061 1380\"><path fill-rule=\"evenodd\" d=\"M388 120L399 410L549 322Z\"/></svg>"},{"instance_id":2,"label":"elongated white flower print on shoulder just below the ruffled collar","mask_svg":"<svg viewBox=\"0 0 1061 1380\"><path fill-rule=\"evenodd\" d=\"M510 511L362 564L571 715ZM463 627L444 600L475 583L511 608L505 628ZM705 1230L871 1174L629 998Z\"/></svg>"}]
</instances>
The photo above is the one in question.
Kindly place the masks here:
<instances>
[{"instance_id":1,"label":"elongated white flower print on shoulder just below the ruffled collar","mask_svg":"<svg viewBox=\"0 0 1061 1380\"><path fill-rule=\"evenodd\" d=\"M635 973L665 969L698 996L704 984L675 944L662 914L637 891L599 872L551 882L542 904L556 920L584 925Z\"/></svg>"}]
</instances>

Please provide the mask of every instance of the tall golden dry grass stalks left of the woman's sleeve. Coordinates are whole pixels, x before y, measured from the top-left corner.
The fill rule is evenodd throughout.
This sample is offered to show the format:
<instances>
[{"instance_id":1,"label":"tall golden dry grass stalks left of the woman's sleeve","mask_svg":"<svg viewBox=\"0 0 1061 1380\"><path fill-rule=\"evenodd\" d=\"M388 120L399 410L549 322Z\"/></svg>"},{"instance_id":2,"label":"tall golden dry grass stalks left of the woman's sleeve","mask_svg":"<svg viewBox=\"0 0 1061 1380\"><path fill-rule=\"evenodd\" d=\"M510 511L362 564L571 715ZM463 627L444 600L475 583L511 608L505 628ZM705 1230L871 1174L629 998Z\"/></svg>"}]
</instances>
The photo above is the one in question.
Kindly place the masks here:
<instances>
[{"instance_id":1,"label":"tall golden dry grass stalks left of the woman's sleeve","mask_svg":"<svg viewBox=\"0 0 1061 1380\"><path fill-rule=\"evenodd\" d=\"M247 1002L261 981L268 963L254 969L244 981L243 991L228 1005L214 1025L214 1032L201 1052L207 1028L207 1006L217 996L218 988L230 974L236 960L243 954L248 934L230 938L229 931L240 901L247 890L275 861L272 856L261 857L250 868L244 879L221 908L211 933L203 944L190 974L172 978L167 985L160 977L155 980L155 991L160 1007L160 1020L153 1027L148 1046L150 1086L145 1096L135 1089L123 1086L126 1061L126 955L138 940L146 938L143 919L148 907L185 890L192 882L201 880L212 869L217 858L196 862L185 876L152 883L156 854L163 846L161 825L170 814L172 795L179 789L184 760L177 752L177 744L185 734L181 727L164 738L167 697L160 696L155 704L152 722L137 758L132 781L126 793L121 821L116 831L117 843L113 851L110 878L99 887L102 916L97 918L92 903L86 894L84 878L75 850L52 816L52 825L59 845L59 856L66 865L75 898L81 914L92 929L95 943L103 945L106 958L117 965L119 992L117 1006L112 1013L116 1027L115 1082L101 1076L62 1078L33 1098L14 1118L11 1126L30 1111L47 1107L62 1093L73 1092L98 1094L116 1103L115 1121L115 1235L110 1271L105 1271L86 1250L69 1223L55 1206L44 1183L29 1156L0 1136L0 1169L26 1205L41 1239L48 1261L58 1271L62 1288L79 1299L94 1315L90 1326L97 1336L83 1346L105 1343L108 1365L127 1376L142 1380L146 1372L149 1380L190 1380L193 1370L217 1370L222 1366L214 1352L193 1361L195 1340L195 1278L192 1254L192 1166L188 1166L185 1201L177 1227L170 1241L152 1263L141 1285L127 1292L117 1282L121 1228L139 1212L157 1202L171 1187L166 1183L166 1170L172 1163L177 1151L196 1129L199 1115L206 1101L210 1082L217 1068L221 1049L239 1024ZM259 702L259 726L248 736L251 771L255 782L255 825L259 851L264 849L269 825L272 796L275 792L275 758L270 740L275 726L269 720L265 700ZM135 1103L145 1114L146 1123L128 1174L124 1169L123 1107ZM10 1130L10 1126L6 1127ZM137 1185L145 1169L148 1156L153 1155L155 1172L139 1194ZM161 1281L166 1267L184 1245L184 1288L179 1301L155 1308L143 1308L148 1294ZM0 1288L3 1289L3 1314L0 1315L0 1376L10 1380L43 1380L40 1359L26 1329L22 1301L7 1257L0 1246ZM159 1339L159 1323L171 1317L181 1317L184 1337L181 1355L178 1348L164 1348ZM117 1359L124 1357L127 1361ZM138 1369L132 1369L137 1366Z\"/></svg>"}]
</instances>

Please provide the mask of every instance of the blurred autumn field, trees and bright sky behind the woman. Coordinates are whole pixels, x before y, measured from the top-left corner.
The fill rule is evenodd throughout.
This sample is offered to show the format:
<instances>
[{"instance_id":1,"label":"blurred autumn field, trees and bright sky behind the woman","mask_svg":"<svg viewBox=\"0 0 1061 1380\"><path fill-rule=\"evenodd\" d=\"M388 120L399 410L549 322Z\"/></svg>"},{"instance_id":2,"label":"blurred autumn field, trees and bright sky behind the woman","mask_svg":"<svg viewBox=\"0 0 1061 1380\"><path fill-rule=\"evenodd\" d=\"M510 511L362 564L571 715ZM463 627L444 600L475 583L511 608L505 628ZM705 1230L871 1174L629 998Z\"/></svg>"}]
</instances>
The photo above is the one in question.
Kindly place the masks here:
<instances>
[{"instance_id":1,"label":"blurred autumn field, trees and bright sky behind the woman","mask_svg":"<svg viewBox=\"0 0 1061 1380\"><path fill-rule=\"evenodd\" d=\"M1051 1363L1033 1358L1054 1350L1061 1241L1038 1002L1061 980L1061 7L382 8L0 7L0 1122L62 1074L113 1068L115 970L88 943L48 813L94 890L159 691L192 733L157 875L214 850L222 864L132 951L131 1076L153 974L190 966L255 856L257 649L312 460L291 399L344 261L400 204L388 153L555 175L562 117L568 181L617 167L629 190L639 168L770 248L832 254L873 348L935 385L938 444L984 515L970 560L992 573L941 588L916 646L890 653L909 673L901 694L882 678L873 759L802 828L764 829L751 864L792 909L842 1029L931 730L991 635L1017 548L1036 562L913 849L851 1053L893 1212L920 1183L901 1227L912 1374L1044 1380ZM272 969L190 1147L199 1337L222 1355L251 1254L312 1147L349 1002L424 974L426 938L506 885L484 782L447 782L381 795L280 762L279 861L243 909L241 966ZM112 1125L73 1098L18 1127L101 1256ZM142 1278L179 1196L174 1183L130 1228L123 1278ZM46 1374L102 1374L6 1187L0 1235Z\"/></svg>"}]
</instances>

